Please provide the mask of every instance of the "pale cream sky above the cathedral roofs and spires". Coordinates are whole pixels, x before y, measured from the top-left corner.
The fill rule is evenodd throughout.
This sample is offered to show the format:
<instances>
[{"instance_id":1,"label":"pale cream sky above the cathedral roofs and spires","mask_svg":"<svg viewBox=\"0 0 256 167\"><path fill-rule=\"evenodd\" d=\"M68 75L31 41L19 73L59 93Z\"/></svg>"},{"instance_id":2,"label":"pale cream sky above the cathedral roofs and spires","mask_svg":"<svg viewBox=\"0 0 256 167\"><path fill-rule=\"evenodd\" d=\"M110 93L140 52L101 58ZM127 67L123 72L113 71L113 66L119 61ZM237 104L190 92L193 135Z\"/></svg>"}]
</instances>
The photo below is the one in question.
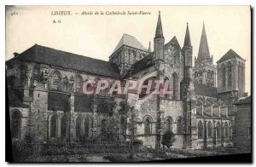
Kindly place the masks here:
<instances>
[{"instance_id":1,"label":"pale cream sky above the cathedral roofs and spires","mask_svg":"<svg viewBox=\"0 0 256 167\"><path fill-rule=\"evenodd\" d=\"M72 15L55 15L71 11ZM129 12L145 14L128 14ZM35 43L73 54L108 60L124 33L153 49L160 11L164 37L183 46L189 23L197 57L203 22L213 62L229 49L246 60L246 91L251 83L251 13L249 6L13 6L6 9L6 60ZM84 14L83 12L93 14ZM96 12L103 14L95 14ZM107 14L119 12L126 14ZM53 13L53 14L52 14ZM53 23L55 20L56 23ZM61 20L61 23L58 21ZM194 60L194 59L193 59Z\"/></svg>"}]
</instances>

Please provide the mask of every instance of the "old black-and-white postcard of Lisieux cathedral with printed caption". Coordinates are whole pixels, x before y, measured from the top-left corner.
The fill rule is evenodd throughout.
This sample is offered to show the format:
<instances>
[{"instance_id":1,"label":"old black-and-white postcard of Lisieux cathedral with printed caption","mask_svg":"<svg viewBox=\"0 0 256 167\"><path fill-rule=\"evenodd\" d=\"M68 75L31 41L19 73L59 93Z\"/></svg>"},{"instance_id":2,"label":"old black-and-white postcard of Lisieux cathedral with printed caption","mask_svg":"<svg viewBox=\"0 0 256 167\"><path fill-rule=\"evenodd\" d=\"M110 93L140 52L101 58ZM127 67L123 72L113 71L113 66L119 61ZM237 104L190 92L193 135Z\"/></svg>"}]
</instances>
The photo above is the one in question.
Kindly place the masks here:
<instances>
[{"instance_id":1,"label":"old black-and-white postcard of Lisieux cathedral with printed caption","mask_svg":"<svg viewBox=\"0 0 256 167\"><path fill-rule=\"evenodd\" d=\"M250 6L6 6L5 66L10 162L251 161Z\"/></svg>"}]
</instances>

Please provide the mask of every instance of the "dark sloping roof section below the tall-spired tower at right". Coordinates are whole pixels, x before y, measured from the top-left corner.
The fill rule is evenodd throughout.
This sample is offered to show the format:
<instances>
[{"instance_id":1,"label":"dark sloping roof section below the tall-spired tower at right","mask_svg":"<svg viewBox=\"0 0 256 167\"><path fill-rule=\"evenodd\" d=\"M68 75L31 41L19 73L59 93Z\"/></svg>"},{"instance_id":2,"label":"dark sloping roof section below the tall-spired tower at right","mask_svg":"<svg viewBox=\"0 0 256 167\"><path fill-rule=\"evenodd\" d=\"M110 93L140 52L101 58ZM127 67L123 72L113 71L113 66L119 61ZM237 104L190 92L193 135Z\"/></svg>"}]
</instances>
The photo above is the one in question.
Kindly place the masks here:
<instances>
[{"instance_id":1,"label":"dark sloping roof section below the tall-spired tower at right","mask_svg":"<svg viewBox=\"0 0 256 167\"><path fill-rule=\"evenodd\" d=\"M218 97L217 88L215 87L196 82L194 83L194 86L196 95L205 95L214 98Z\"/></svg>"}]
</instances>

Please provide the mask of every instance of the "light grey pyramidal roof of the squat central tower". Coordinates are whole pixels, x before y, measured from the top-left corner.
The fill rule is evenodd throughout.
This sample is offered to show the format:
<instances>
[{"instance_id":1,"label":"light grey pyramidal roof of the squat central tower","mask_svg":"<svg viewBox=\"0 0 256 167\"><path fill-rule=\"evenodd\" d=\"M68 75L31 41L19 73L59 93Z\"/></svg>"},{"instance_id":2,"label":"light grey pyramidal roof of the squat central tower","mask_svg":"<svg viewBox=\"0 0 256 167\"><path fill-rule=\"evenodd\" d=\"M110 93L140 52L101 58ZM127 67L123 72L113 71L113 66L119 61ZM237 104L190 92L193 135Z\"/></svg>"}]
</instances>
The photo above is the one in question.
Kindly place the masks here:
<instances>
[{"instance_id":1,"label":"light grey pyramidal roof of the squat central tower","mask_svg":"<svg viewBox=\"0 0 256 167\"><path fill-rule=\"evenodd\" d=\"M113 53L116 52L119 48L121 48L122 46L130 46L132 48L135 49L140 49L143 51L148 51L142 43L140 43L136 37L133 37L131 35L128 34L123 34L123 36L121 37L121 39L119 40L118 45L115 47L115 49L113 50Z\"/></svg>"}]
</instances>

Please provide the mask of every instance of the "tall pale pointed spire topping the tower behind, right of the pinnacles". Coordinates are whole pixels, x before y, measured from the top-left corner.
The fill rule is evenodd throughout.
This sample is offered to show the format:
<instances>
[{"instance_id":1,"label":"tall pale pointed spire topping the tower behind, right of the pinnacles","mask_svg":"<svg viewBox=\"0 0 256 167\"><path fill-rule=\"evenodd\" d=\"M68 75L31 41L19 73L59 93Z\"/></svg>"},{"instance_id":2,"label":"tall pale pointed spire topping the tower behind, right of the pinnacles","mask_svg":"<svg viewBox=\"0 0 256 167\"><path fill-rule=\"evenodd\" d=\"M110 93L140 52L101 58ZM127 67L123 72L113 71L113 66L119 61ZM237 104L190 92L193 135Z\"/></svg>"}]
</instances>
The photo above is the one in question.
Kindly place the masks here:
<instances>
[{"instance_id":1,"label":"tall pale pointed spire topping the tower behind, right of the pinnacles","mask_svg":"<svg viewBox=\"0 0 256 167\"><path fill-rule=\"evenodd\" d=\"M206 33L206 28L205 28L205 23L203 23L203 29L201 32L201 42L199 46L199 51L198 51L198 59L209 59L210 58L210 52L209 52L209 47L208 47L208 42L207 42L207 33Z\"/></svg>"}]
</instances>

